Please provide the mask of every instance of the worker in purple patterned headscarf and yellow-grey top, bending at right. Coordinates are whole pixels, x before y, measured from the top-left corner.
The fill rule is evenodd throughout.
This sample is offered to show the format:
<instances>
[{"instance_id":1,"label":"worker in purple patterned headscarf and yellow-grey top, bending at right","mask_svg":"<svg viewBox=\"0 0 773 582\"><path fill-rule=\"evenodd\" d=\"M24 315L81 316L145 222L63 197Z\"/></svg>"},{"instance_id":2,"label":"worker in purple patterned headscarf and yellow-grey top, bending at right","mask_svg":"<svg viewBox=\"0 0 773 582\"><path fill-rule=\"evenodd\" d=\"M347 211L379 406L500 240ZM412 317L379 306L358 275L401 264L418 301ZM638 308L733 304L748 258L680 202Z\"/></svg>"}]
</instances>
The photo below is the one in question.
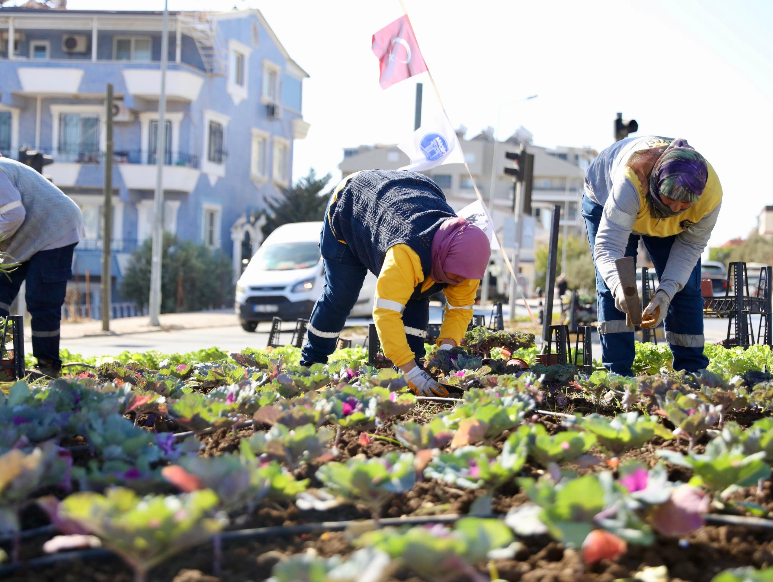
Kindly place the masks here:
<instances>
[{"instance_id":1,"label":"worker in purple patterned headscarf and yellow-grey top, bending at right","mask_svg":"<svg viewBox=\"0 0 773 582\"><path fill-rule=\"evenodd\" d=\"M632 375L634 330L626 325L615 259L635 257L640 236L659 279L644 311L645 320L652 321L648 327L665 317L675 370L707 367L700 255L721 201L717 174L684 139L623 139L591 163L582 214L596 265L598 332L606 368Z\"/></svg>"}]
</instances>

